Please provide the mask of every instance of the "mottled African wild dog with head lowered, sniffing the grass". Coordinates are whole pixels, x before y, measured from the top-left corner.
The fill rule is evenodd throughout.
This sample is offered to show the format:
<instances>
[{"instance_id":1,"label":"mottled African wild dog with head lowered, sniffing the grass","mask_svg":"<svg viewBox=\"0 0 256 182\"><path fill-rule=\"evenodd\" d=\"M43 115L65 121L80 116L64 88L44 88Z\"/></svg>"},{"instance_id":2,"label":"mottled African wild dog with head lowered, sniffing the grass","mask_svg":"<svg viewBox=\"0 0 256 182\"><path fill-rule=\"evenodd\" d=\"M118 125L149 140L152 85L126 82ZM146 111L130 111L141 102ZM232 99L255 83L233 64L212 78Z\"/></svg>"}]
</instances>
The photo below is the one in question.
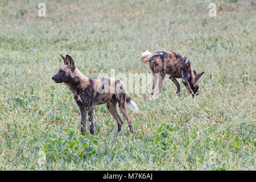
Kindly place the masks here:
<instances>
[{"instance_id":1,"label":"mottled African wild dog with head lowered, sniffing the grass","mask_svg":"<svg viewBox=\"0 0 256 182\"><path fill-rule=\"evenodd\" d=\"M196 71L192 71L190 61L187 57L182 57L175 51L160 51L152 55L152 53L147 50L146 52L142 52L142 61L143 63L147 63L149 61L152 73L158 74L156 75L158 80L155 80L157 77L154 76L151 90L152 95L155 93L156 89L158 89L156 92L156 95L158 95L166 74L170 75L169 79L177 86L177 94L180 92L180 84L177 82L176 78L182 78L183 84L192 96L194 96L194 94L199 90L198 81L199 78L204 75L204 72L196 75ZM158 81L158 87L155 85L155 81Z\"/></svg>"}]
</instances>

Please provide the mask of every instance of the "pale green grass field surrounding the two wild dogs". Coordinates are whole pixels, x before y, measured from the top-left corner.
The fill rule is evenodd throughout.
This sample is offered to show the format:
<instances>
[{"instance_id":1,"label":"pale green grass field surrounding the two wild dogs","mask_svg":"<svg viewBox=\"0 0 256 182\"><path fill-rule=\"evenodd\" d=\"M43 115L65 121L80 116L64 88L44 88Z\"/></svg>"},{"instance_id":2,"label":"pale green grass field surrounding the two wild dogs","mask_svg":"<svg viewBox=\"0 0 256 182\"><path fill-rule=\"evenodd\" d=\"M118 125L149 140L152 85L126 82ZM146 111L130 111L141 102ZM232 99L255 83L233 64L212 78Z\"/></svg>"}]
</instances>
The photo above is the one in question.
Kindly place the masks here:
<instances>
[{"instance_id":1,"label":"pale green grass field surrounding the two wild dogs","mask_svg":"<svg viewBox=\"0 0 256 182\"><path fill-rule=\"evenodd\" d=\"M1 170L255 170L255 1L0 2ZM71 55L85 76L151 73L141 52L175 50L200 80L192 98L168 78L160 96L131 94L143 114L117 135L106 105L96 136L81 136L80 111L51 80ZM88 125L87 125L88 126ZM88 129L88 128L87 128Z\"/></svg>"}]
</instances>

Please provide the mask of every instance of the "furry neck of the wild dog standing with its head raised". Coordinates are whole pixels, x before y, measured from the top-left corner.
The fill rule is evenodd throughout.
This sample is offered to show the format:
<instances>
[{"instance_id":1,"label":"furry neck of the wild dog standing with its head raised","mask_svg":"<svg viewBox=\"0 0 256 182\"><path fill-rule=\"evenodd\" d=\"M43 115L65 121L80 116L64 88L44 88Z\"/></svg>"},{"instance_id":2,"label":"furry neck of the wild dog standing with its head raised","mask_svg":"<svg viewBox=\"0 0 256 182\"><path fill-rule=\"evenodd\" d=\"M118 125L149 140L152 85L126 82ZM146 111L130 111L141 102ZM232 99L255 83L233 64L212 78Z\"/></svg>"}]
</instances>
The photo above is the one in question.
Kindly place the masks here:
<instances>
[{"instance_id":1,"label":"furry neck of the wild dog standing with its head raised","mask_svg":"<svg viewBox=\"0 0 256 182\"><path fill-rule=\"evenodd\" d=\"M73 94L79 94L80 88L84 88L84 86L88 83L89 78L82 75L82 73L77 68L72 73L71 80L65 82L65 84L68 86L69 90L71 90Z\"/></svg>"}]
</instances>

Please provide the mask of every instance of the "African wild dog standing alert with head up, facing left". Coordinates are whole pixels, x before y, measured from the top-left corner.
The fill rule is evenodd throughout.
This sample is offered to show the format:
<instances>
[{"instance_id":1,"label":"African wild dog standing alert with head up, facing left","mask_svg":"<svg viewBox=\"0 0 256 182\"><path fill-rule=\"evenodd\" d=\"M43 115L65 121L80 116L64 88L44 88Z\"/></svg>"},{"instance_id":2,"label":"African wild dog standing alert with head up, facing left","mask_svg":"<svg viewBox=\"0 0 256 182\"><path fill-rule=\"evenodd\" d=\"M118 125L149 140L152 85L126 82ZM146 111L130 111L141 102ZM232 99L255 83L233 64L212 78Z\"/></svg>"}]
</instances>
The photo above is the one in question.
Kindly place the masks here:
<instances>
[{"instance_id":1,"label":"African wild dog standing alert with head up, facing left","mask_svg":"<svg viewBox=\"0 0 256 182\"><path fill-rule=\"evenodd\" d=\"M117 131L121 131L123 124L122 119L117 113L118 106L128 122L131 133L133 133L133 123L131 123L126 104L131 110L138 113L137 105L131 100L129 94L126 93L125 86L121 81L114 78L88 78L82 75L76 68L72 57L62 56L64 66L59 69L56 75L52 76L52 80L56 83L64 82L74 95L76 104L81 112L81 131L82 135L86 134L86 112L89 116L90 133L94 133L93 126L93 105L107 104L109 112L117 121Z\"/></svg>"}]
</instances>

